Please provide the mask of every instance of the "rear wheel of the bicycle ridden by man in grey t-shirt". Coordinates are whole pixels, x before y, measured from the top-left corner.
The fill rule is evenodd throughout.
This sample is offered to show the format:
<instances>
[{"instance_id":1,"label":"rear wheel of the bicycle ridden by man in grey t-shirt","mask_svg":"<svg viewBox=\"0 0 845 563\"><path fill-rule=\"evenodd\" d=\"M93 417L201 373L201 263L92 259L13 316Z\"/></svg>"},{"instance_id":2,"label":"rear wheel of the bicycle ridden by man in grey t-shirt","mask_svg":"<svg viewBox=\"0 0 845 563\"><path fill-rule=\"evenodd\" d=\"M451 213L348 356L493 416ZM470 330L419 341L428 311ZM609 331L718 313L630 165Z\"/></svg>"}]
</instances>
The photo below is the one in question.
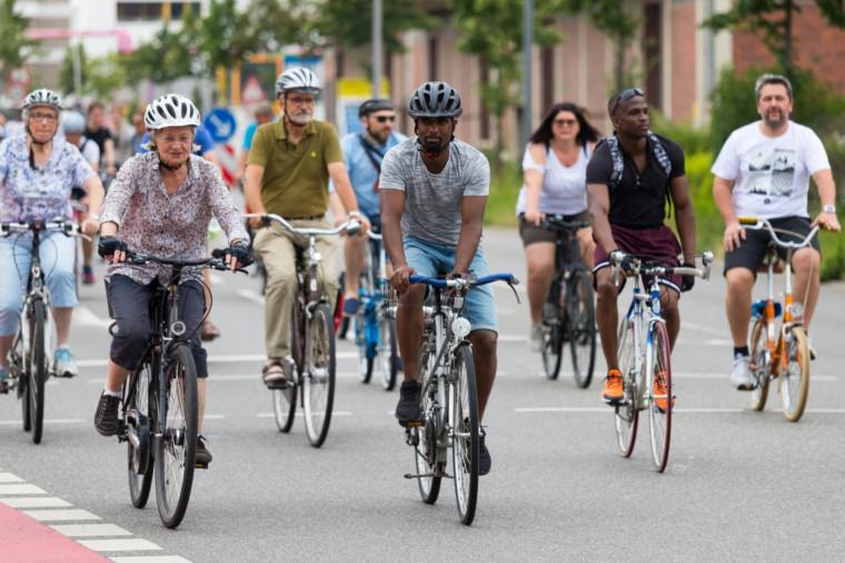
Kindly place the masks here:
<instances>
[{"instance_id":1,"label":"rear wheel of the bicycle ridden by man in grey t-shirt","mask_svg":"<svg viewBox=\"0 0 845 563\"><path fill-rule=\"evenodd\" d=\"M426 339L419 350L419 382L422 393L420 394L420 411L422 412L424 425L410 428L416 436L414 444L414 467L417 472L417 486L419 496L426 504L434 504L440 494L446 462L438 450L439 416L443 408L437 404L437 384L433 379L435 369L435 353L430 340Z\"/></svg>"}]
</instances>

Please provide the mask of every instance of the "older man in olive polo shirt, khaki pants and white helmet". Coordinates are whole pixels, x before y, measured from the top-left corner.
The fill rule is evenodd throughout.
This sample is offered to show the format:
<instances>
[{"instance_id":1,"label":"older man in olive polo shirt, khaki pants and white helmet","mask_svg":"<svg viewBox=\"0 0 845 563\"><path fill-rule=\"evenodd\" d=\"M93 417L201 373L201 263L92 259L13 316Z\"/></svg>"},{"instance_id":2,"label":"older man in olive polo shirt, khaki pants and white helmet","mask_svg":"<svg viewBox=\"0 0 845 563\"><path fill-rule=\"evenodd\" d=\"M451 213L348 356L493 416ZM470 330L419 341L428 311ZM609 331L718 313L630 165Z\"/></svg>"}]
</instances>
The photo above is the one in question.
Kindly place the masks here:
<instances>
[{"instance_id":1,"label":"older man in olive polo shirt, khaki pants and white helmet","mask_svg":"<svg viewBox=\"0 0 845 563\"><path fill-rule=\"evenodd\" d=\"M369 227L358 211L335 128L314 119L320 80L307 68L285 70L276 81L276 98L284 115L278 121L258 128L249 150L245 192L247 208L256 214L277 214L295 227L330 227L326 220L329 205L328 180L332 180L345 213ZM342 220L345 217L336 217ZM261 227L252 219L252 227ZM295 240L282 227L261 228L255 249L267 267L265 344L267 362L261 378L268 386L284 385L294 374L290 356L290 312L296 282ZM317 239L322 255L320 283L325 295L337 295L335 251L337 243ZM334 303L330 304L334 307Z\"/></svg>"}]
</instances>

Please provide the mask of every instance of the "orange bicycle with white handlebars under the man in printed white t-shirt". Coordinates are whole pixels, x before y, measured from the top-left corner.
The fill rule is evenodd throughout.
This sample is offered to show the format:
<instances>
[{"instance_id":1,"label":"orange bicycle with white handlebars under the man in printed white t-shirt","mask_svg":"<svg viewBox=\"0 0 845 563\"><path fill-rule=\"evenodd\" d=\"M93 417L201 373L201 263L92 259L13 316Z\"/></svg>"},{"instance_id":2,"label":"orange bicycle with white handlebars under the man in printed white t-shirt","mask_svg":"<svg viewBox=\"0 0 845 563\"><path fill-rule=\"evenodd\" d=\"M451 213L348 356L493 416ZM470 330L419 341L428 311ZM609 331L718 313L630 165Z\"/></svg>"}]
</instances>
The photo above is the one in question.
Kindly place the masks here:
<instances>
[{"instance_id":1,"label":"orange bicycle with white handlebars under the man in printed white t-shirt","mask_svg":"<svg viewBox=\"0 0 845 563\"><path fill-rule=\"evenodd\" d=\"M779 379L781 405L789 422L798 422L804 414L809 394L809 342L804 329L802 315L804 307L795 302L792 294L792 255L798 248L808 246L818 233L815 226L802 239L797 233L777 229L767 219L740 217L739 224L747 229L768 230L772 236L766 259L766 298L752 305L750 369L755 385L752 389L752 408L766 407L768 386L772 379ZM801 241L783 240L777 234L794 235ZM777 248L786 250L784 261L784 306L775 299L775 268L778 264ZM778 318L783 320L778 323Z\"/></svg>"}]
</instances>

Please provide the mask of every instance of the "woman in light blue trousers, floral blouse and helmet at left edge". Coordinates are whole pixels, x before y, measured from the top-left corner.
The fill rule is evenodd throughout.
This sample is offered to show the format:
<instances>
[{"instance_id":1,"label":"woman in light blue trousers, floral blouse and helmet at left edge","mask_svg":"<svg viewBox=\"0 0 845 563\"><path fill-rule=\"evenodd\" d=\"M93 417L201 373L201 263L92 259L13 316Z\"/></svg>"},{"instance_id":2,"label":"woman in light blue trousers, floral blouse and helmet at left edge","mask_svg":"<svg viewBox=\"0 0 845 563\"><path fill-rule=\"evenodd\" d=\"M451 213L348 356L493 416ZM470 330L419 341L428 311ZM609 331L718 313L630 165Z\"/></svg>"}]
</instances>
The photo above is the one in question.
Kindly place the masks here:
<instances>
[{"instance_id":1,"label":"woman in light blue trousers, floral blouse and helmet at left edge","mask_svg":"<svg viewBox=\"0 0 845 563\"><path fill-rule=\"evenodd\" d=\"M0 223L52 220L68 217L71 188L81 188L93 211L82 229L97 233L95 220L102 205L102 184L76 147L56 137L61 98L38 89L23 102L24 135L0 144ZM32 238L0 238L0 393L6 392L6 360L18 329L29 275ZM60 233L43 236L41 267L50 290L57 344L53 373L72 377L79 373L70 353L70 319L77 304L73 275L76 239Z\"/></svg>"}]
</instances>

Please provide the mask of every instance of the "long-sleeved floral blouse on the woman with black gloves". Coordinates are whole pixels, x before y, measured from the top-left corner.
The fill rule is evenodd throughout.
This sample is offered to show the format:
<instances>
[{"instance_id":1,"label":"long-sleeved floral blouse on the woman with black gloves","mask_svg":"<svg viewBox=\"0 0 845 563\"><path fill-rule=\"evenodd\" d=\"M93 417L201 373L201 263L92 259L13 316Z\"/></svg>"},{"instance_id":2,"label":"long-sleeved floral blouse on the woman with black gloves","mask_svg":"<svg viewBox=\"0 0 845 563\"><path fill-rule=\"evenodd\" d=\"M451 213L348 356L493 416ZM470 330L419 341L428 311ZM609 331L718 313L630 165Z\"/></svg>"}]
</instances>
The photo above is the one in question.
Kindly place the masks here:
<instances>
[{"instance_id":1,"label":"long-sleeved floral blouse on the woman with black gloves","mask_svg":"<svg viewBox=\"0 0 845 563\"><path fill-rule=\"evenodd\" d=\"M229 243L249 240L242 218L220 172L211 162L191 155L188 176L172 196L159 174L156 152L137 155L120 167L102 206L100 224L116 223L117 236L130 250L168 259L196 260L209 256L206 238L211 216ZM147 285L158 277L166 284L170 268L157 264L111 264L108 275L120 274ZM201 268L182 270L182 282L201 279Z\"/></svg>"}]
</instances>

